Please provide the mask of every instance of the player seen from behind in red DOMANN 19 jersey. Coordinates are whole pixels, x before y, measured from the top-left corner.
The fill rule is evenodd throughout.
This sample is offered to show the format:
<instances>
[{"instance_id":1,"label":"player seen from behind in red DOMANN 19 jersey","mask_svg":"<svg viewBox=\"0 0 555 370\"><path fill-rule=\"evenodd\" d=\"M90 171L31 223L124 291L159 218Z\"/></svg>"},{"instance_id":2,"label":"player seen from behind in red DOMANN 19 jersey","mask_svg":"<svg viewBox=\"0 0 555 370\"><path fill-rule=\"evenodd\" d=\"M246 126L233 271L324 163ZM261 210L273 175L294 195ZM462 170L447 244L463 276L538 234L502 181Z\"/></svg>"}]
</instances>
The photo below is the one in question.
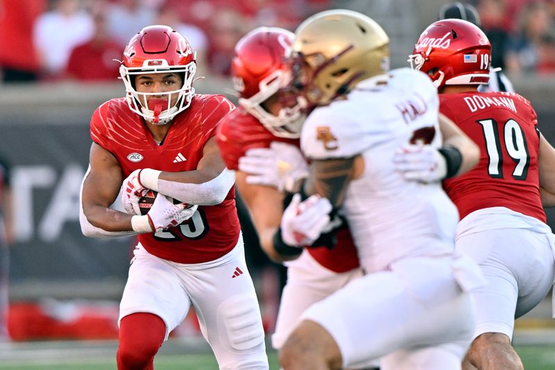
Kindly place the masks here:
<instances>
[{"instance_id":1,"label":"player seen from behind in red DOMANN 19 jersey","mask_svg":"<svg viewBox=\"0 0 555 370\"><path fill-rule=\"evenodd\" d=\"M523 369L511 346L514 320L554 281L555 238L542 205L555 204L555 151L527 99L478 91L490 78L490 53L477 26L444 19L420 35L409 60L434 81L441 112L481 148L477 167L444 182L461 216L456 249L488 280L474 294L478 322L463 367L513 370Z\"/></svg>"}]
</instances>

